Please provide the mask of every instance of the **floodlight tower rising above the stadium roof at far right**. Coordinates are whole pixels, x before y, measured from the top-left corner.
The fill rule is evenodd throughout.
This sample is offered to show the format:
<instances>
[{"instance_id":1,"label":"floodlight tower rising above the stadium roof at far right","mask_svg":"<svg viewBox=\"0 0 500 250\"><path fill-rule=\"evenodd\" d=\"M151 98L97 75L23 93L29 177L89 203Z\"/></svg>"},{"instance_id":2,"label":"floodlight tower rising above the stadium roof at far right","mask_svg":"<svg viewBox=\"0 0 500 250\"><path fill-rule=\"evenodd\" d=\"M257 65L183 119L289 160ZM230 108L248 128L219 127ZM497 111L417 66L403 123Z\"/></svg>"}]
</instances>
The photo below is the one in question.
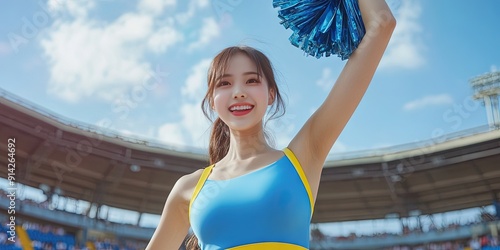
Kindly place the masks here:
<instances>
[{"instance_id":1,"label":"floodlight tower rising above the stadium roof at far right","mask_svg":"<svg viewBox=\"0 0 500 250\"><path fill-rule=\"evenodd\" d=\"M474 100L483 99L491 129L500 128L498 96L500 95L500 71L492 71L470 79L474 89Z\"/></svg>"}]
</instances>

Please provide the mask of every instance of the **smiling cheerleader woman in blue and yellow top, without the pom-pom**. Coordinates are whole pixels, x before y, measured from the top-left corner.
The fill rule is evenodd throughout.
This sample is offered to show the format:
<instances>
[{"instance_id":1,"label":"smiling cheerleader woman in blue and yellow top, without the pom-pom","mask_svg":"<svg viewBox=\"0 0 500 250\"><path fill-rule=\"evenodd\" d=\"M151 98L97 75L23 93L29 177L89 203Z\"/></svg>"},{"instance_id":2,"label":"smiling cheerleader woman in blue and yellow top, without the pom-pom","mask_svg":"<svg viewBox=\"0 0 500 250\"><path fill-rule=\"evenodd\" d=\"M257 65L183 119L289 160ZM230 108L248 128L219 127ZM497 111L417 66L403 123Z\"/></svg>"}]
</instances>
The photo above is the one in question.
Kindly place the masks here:
<instances>
[{"instance_id":1,"label":"smiling cheerleader woman in blue and yellow top, without the pom-pom","mask_svg":"<svg viewBox=\"0 0 500 250\"><path fill-rule=\"evenodd\" d=\"M383 0L359 0L366 35L329 95L283 150L269 146L263 117L283 108L272 66L250 47L212 61L202 107L215 112L210 165L181 177L170 192L148 250L308 249L321 171L363 97L395 19Z\"/></svg>"}]
</instances>

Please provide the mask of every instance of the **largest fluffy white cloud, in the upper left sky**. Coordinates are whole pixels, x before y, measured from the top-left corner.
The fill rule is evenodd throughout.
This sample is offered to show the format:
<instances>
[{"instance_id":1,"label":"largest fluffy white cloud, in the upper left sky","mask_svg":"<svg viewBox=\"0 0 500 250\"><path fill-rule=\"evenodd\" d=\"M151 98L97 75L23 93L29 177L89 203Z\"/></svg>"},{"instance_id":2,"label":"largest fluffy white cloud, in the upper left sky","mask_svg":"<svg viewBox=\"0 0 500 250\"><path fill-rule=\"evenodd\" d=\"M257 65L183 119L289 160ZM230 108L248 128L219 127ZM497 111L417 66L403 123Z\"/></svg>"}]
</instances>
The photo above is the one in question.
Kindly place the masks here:
<instances>
[{"instance_id":1,"label":"largest fluffy white cloud, in the upper left sky","mask_svg":"<svg viewBox=\"0 0 500 250\"><path fill-rule=\"evenodd\" d=\"M183 40L173 19L165 23L151 15L129 12L102 23L86 15L93 2L58 1L49 2L50 9L68 11L72 18L53 22L41 46L50 67L48 92L68 102L90 96L109 102L119 99L153 72L144 58L146 51L165 52Z\"/></svg>"}]
</instances>

